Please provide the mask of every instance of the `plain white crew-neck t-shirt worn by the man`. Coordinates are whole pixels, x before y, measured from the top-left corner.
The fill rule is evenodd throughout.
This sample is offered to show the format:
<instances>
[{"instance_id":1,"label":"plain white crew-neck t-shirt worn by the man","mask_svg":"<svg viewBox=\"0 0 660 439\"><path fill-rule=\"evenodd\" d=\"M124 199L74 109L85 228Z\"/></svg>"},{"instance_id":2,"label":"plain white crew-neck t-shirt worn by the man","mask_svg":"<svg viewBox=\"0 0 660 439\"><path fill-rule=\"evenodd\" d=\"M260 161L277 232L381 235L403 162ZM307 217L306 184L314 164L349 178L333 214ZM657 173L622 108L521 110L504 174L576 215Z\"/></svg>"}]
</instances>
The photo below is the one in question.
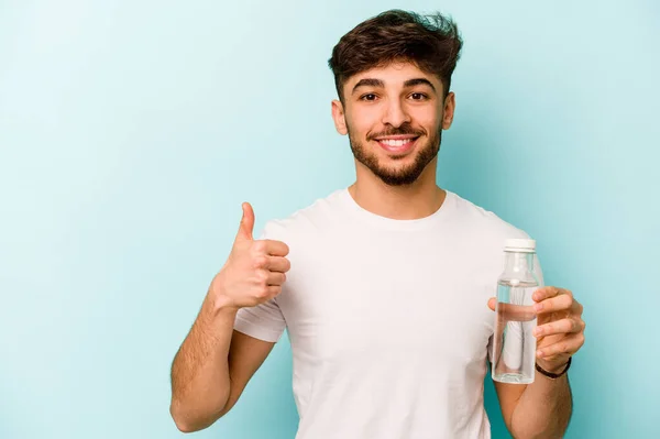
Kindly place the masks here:
<instances>
[{"instance_id":1,"label":"plain white crew-neck t-shirt worn by the man","mask_svg":"<svg viewBox=\"0 0 660 439\"><path fill-rule=\"evenodd\" d=\"M287 329L297 439L491 437L487 300L505 240L525 232L450 191L433 215L393 220L341 189L261 238L286 242L292 268L235 329L271 342Z\"/></svg>"}]
</instances>

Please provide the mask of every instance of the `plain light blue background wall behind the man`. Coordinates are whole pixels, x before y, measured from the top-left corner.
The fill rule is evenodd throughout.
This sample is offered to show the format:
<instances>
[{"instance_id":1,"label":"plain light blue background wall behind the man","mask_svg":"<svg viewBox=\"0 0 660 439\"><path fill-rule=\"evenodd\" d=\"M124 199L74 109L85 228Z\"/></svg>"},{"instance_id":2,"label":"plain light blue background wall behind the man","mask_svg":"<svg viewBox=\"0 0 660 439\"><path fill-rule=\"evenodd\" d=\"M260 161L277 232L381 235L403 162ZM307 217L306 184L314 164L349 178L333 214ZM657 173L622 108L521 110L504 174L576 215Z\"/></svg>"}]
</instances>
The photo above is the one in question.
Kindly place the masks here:
<instances>
[{"instance_id":1,"label":"plain light blue background wall behind the man","mask_svg":"<svg viewBox=\"0 0 660 439\"><path fill-rule=\"evenodd\" d=\"M584 304L569 438L657 438L656 1L0 1L0 438L175 438L169 365L234 238L354 177L327 59L392 7L458 21L439 184ZM484 305L485 306L485 305ZM279 343L199 438L293 438ZM506 437L492 384L487 409Z\"/></svg>"}]
</instances>

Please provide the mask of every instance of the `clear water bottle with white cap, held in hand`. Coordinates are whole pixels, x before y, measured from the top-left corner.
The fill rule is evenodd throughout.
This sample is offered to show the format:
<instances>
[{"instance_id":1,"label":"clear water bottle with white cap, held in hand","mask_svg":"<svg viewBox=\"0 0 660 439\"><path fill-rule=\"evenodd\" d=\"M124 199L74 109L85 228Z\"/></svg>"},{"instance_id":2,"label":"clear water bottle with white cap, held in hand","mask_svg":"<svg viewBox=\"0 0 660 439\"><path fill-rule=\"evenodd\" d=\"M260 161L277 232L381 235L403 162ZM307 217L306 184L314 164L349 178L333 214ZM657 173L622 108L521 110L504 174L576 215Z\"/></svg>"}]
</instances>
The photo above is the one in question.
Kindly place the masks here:
<instances>
[{"instance_id":1,"label":"clear water bottle with white cap, held in hand","mask_svg":"<svg viewBox=\"0 0 660 439\"><path fill-rule=\"evenodd\" d=\"M512 239L505 242L504 272L497 282L493 380L502 383L534 382L537 325L531 295L538 289L535 274L536 241Z\"/></svg>"}]
</instances>

